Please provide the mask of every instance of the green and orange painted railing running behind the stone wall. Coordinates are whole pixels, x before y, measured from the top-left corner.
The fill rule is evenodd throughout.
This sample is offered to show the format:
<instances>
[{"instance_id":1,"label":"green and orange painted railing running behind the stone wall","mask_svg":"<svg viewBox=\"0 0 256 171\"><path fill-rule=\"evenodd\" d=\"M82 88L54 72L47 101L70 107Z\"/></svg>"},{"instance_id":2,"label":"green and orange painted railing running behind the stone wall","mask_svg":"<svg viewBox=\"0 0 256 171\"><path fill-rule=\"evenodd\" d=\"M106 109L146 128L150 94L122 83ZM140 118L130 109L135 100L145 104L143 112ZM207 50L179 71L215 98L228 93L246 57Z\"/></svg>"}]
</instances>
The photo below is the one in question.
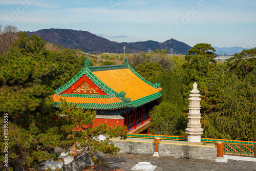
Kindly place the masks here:
<instances>
[{"instance_id":1,"label":"green and orange painted railing running behind the stone wall","mask_svg":"<svg viewBox=\"0 0 256 171\"><path fill-rule=\"evenodd\" d=\"M187 137L166 136L166 135L149 135L149 134L127 134L130 138L154 139L161 137L162 140L187 141ZM237 141L225 139L201 138L201 142L215 143L223 141L223 154L231 156L256 157L256 142L254 141Z\"/></svg>"}]
</instances>

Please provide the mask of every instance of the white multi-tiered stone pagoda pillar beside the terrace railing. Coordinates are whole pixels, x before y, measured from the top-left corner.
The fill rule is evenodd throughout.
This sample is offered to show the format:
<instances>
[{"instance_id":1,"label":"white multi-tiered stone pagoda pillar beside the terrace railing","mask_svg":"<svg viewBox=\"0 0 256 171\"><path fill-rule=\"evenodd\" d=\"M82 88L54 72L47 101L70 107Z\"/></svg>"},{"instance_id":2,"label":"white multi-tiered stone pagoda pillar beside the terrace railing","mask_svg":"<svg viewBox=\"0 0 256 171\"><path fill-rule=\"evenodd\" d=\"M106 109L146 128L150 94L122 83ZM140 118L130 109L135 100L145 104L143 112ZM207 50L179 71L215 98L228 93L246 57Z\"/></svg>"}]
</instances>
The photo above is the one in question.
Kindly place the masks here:
<instances>
[{"instance_id":1,"label":"white multi-tiered stone pagoda pillar beside the terrace railing","mask_svg":"<svg viewBox=\"0 0 256 171\"><path fill-rule=\"evenodd\" d=\"M193 90L190 91L189 105L188 105L188 123L187 123L187 141L188 142L201 142L201 135L203 134L202 124L200 122L200 100L201 95L198 94L197 83L193 84Z\"/></svg>"}]
</instances>

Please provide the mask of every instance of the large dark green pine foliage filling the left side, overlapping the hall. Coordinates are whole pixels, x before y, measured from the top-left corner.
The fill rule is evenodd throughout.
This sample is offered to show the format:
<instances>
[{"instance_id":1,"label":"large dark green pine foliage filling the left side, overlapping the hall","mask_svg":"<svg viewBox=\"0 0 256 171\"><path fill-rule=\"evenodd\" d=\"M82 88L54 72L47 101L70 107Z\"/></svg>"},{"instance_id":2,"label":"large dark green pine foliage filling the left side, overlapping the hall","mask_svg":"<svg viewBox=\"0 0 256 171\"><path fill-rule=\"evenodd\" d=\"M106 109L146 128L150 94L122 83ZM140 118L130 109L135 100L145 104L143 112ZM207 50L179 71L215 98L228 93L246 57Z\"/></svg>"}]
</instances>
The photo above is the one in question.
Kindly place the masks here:
<instances>
[{"instance_id":1,"label":"large dark green pine foliage filling the left side, overlapping the hall","mask_svg":"<svg viewBox=\"0 0 256 171\"><path fill-rule=\"evenodd\" d=\"M0 127L4 130L4 116L8 115L8 161L23 169L33 170L36 164L57 156L54 153L55 147L69 149L79 142L80 146L75 148L88 147L92 159L101 163L101 157L95 156L99 151L116 153L119 148L108 144L108 140L120 135L125 138L124 127L108 128L107 125L99 125L92 128L95 112L84 112L65 102L60 114L53 109L53 90L63 84L61 76L66 73L65 68L58 64L69 67L77 66L79 62L73 50L50 52L44 46L42 38L34 35L28 37L21 32L9 51L0 56ZM84 132L73 132L81 124L87 126ZM106 136L106 141L93 138L100 133ZM3 139L6 137L1 134L0 139L2 169ZM73 155L78 153L75 148Z\"/></svg>"}]
</instances>

